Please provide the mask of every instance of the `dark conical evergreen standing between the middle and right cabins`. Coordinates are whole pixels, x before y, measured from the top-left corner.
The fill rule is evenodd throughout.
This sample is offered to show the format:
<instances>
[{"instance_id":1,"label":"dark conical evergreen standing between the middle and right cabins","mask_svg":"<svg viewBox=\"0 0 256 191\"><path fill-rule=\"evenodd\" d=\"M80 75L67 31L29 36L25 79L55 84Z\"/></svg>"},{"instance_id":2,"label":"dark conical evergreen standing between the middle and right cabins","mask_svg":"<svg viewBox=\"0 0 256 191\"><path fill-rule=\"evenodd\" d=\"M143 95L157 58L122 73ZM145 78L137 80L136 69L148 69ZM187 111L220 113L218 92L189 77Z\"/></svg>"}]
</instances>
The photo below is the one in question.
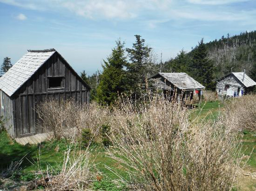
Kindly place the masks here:
<instances>
[{"instance_id":1,"label":"dark conical evergreen standing between the middle and right cabins","mask_svg":"<svg viewBox=\"0 0 256 191\"><path fill-rule=\"evenodd\" d=\"M202 39L193 52L190 66L191 75L208 90L214 90L213 81L214 66L213 61L208 58L208 51Z\"/></svg>"}]
</instances>

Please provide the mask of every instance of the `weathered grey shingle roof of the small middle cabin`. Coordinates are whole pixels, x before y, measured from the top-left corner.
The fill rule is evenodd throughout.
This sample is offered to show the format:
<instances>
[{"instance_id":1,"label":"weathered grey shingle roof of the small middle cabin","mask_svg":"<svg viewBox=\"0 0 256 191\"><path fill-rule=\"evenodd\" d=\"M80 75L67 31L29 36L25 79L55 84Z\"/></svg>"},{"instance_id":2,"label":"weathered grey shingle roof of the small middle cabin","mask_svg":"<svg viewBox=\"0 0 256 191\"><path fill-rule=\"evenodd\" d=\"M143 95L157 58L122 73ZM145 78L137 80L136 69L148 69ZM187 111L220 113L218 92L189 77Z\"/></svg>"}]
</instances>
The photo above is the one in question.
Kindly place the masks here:
<instances>
[{"instance_id":1,"label":"weathered grey shingle roof of the small middle cabin","mask_svg":"<svg viewBox=\"0 0 256 191\"><path fill-rule=\"evenodd\" d=\"M163 77L178 89L181 90L194 90L204 89L205 87L197 82L195 79L190 77L186 73L158 73L151 78Z\"/></svg>"}]
</instances>

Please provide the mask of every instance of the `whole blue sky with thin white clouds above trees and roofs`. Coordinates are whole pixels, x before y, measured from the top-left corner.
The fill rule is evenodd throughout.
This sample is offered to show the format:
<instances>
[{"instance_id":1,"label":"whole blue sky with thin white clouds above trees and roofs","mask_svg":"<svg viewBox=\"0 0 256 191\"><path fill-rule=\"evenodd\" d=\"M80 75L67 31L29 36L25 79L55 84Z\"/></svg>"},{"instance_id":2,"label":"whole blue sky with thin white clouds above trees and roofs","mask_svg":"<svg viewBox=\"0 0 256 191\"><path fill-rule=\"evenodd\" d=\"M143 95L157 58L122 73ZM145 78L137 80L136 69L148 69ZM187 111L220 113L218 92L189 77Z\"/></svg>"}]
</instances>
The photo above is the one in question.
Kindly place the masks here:
<instances>
[{"instance_id":1,"label":"whole blue sky with thin white clouds above trees and roofs","mask_svg":"<svg viewBox=\"0 0 256 191\"><path fill-rule=\"evenodd\" d=\"M222 35L256 30L256 0L0 0L0 60L55 48L77 72L101 70L121 38L142 35L163 61Z\"/></svg>"}]
</instances>

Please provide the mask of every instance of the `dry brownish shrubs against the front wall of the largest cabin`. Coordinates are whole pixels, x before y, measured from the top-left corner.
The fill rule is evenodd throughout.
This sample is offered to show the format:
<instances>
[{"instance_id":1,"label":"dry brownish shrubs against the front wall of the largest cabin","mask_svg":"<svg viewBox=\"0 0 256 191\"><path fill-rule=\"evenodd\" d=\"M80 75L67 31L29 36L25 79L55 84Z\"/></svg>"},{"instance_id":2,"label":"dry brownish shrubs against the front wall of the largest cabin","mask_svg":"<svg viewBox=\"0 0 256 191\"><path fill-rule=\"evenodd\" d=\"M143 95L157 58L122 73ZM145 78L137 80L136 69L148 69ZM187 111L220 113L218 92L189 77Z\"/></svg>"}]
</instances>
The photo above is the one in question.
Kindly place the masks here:
<instances>
[{"instance_id":1,"label":"dry brownish shrubs against the front wall of the largest cabin","mask_svg":"<svg viewBox=\"0 0 256 191\"><path fill-rule=\"evenodd\" d=\"M47 100L39 104L37 113L41 120L39 124L57 140L71 139L75 133L80 136L84 128L97 135L100 126L108 124L110 119L108 108L95 103L81 106L73 100Z\"/></svg>"}]
</instances>

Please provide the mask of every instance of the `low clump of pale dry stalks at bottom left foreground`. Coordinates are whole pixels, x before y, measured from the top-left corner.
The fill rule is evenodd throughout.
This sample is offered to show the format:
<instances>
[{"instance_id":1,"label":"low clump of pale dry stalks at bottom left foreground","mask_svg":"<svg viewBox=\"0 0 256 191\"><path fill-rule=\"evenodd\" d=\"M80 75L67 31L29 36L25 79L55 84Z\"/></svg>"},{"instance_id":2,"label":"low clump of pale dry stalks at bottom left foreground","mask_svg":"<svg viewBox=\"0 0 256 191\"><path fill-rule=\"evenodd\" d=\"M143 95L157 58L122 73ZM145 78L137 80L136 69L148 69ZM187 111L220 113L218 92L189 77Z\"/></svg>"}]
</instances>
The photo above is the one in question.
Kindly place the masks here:
<instances>
[{"instance_id":1,"label":"low clump of pale dry stalks at bottom left foreground","mask_svg":"<svg viewBox=\"0 0 256 191\"><path fill-rule=\"evenodd\" d=\"M74 146L72 144L74 142L67 146L62 165L57 165L57 167L48 166L46 176L45 173L41 174L44 177L42 185L44 185L45 190L82 191L88 189L93 182L95 175L91 172L91 168L94 167L94 161L90 160L88 148L85 151L74 152L71 149Z\"/></svg>"}]
</instances>

